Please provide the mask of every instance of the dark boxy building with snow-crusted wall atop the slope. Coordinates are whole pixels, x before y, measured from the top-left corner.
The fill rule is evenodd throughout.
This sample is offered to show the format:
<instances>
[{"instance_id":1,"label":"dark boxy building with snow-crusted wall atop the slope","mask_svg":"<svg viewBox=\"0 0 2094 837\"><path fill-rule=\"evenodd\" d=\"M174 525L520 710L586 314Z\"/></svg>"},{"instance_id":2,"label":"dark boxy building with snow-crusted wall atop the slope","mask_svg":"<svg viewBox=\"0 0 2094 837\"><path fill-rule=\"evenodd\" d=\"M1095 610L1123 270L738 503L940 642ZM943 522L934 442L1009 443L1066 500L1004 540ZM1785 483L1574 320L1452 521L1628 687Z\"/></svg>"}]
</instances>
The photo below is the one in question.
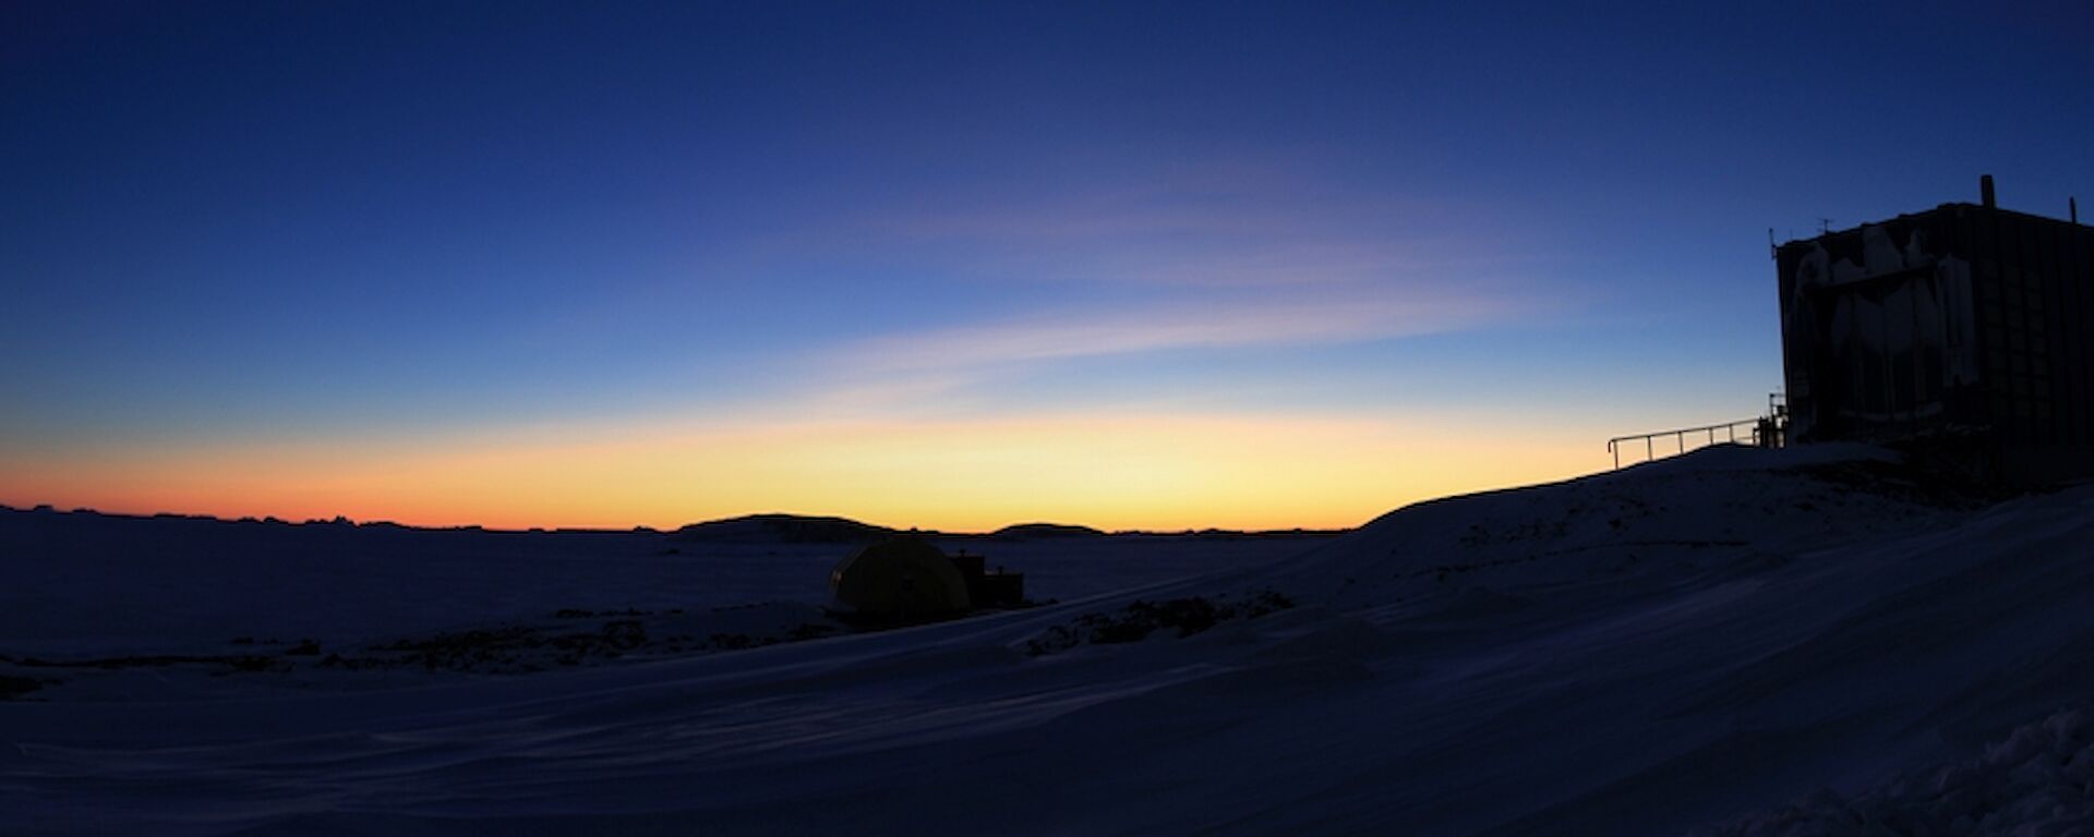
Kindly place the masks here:
<instances>
[{"instance_id":1,"label":"dark boxy building with snow-crusted wall atop the slope","mask_svg":"<svg viewBox=\"0 0 2094 837\"><path fill-rule=\"evenodd\" d=\"M2010 475L2094 475L2094 228L1950 203L1776 262L1801 439L1960 429Z\"/></svg>"}]
</instances>

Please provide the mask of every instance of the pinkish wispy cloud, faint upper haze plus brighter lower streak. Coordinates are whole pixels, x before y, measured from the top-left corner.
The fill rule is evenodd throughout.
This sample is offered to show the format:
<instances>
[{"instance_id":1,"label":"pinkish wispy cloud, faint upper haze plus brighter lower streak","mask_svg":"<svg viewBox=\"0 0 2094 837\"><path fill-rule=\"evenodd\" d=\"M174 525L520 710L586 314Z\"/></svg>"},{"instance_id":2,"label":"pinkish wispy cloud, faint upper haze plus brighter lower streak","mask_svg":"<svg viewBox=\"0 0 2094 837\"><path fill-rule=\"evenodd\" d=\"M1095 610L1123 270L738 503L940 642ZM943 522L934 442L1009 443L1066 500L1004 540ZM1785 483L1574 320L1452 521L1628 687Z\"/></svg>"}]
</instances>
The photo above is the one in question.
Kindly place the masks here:
<instances>
[{"instance_id":1,"label":"pinkish wispy cloud, faint upper haze plus brighter lower streak","mask_svg":"<svg viewBox=\"0 0 2094 837\"><path fill-rule=\"evenodd\" d=\"M1030 308L982 314L923 299L917 322L932 326L817 354L808 381L823 412L1007 402L1013 381L1037 372L1066 387L1057 368L1089 358L1179 352L1177 364L1215 349L1219 364L1191 375L1227 377L1242 354L1221 349L1374 343L1560 308L1560 293L1535 293L1547 259L1506 232L1516 226L1503 207L1384 193L1296 161L1030 186L936 195L863 222L856 232L888 264L957 289L1018 285ZM1139 377L1156 366L1083 368Z\"/></svg>"}]
</instances>

